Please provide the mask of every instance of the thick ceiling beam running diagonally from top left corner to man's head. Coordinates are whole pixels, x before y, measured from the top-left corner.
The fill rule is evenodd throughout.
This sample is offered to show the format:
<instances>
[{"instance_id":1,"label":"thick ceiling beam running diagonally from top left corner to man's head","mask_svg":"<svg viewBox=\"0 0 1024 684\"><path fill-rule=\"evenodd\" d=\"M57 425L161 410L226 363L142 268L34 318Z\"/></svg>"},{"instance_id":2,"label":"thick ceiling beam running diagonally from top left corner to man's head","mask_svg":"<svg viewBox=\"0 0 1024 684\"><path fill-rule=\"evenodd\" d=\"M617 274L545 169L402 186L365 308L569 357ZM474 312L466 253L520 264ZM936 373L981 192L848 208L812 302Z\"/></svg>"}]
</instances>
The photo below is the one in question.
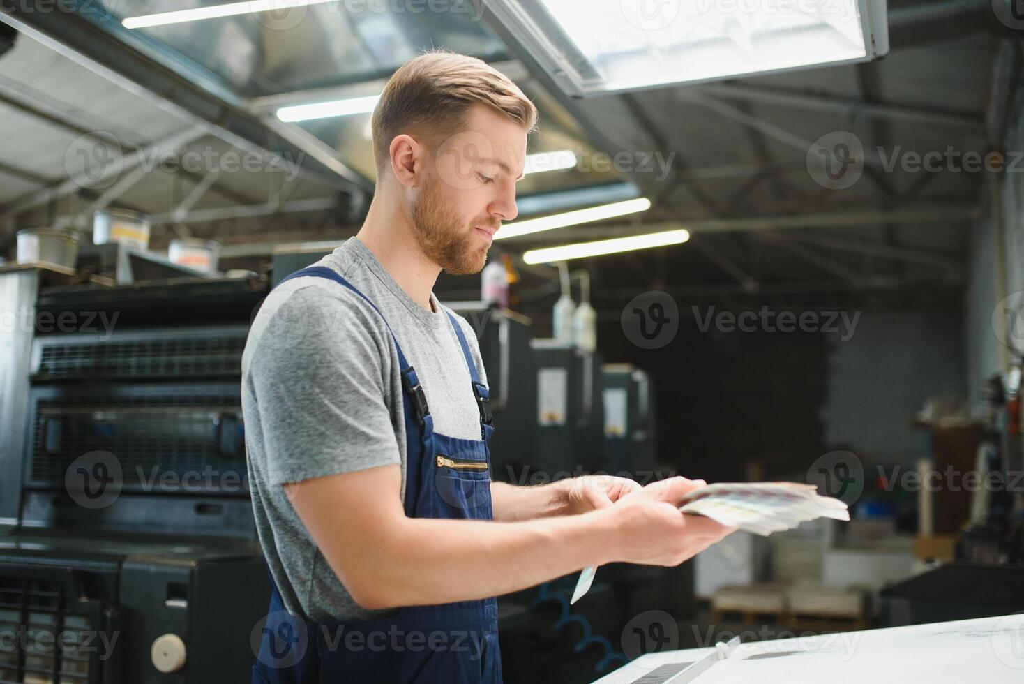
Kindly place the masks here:
<instances>
[{"instance_id":1,"label":"thick ceiling beam running diagonally from top left corner to man's head","mask_svg":"<svg viewBox=\"0 0 1024 684\"><path fill-rule=\"evenodd\" d=\"M304 172L321 182L372 193L373 183L335 158L324 164L318 151L305 149L270 130L244 104L227 101L211 89L159 63L139 49L76 12L38 11L19 3L5 4L0 22L63 54L136 95L155 98L190 126L201 127L240 149L310 158ZM120 27L117 27L120 29Z\"/></svg>"}]
</instances>

